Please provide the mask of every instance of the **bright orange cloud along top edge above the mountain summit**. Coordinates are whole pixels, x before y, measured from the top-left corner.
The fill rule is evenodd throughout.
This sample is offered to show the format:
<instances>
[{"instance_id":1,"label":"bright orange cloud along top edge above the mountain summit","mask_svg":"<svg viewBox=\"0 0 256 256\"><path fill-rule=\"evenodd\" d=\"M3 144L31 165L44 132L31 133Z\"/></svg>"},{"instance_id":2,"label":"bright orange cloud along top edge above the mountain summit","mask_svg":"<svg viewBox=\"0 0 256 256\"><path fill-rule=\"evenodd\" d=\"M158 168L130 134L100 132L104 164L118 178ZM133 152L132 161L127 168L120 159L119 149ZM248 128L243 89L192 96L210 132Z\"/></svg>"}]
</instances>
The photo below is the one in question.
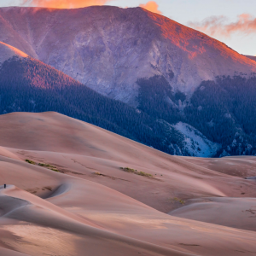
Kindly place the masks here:
<instances>
[{"instance_id":1,"label":"bright orange cloud along top edge above the mountain summit","mask_svg":"<svg viewBox=\"0 0 256 256\"><path fill-rule=\"evenodd\" d=\"M81 8L91 5L104 5L112 0L23 0L22 5L59 8L59 9L73 9Z\"/></svg>"}]
</instances>

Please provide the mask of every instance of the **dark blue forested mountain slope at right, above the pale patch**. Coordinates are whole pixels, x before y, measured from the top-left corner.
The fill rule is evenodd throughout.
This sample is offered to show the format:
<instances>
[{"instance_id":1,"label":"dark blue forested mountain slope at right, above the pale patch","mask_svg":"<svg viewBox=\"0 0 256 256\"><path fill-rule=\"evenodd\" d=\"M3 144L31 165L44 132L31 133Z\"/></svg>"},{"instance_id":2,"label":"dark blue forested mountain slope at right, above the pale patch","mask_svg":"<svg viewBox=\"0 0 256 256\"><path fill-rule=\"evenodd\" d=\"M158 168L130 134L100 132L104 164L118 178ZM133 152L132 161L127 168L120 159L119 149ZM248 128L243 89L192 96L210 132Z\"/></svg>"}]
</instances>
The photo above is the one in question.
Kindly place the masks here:
<instances>
[{"instance_id":1,"label":"dark blue forested mountain slope at right, above the pale patch","mask_svg":"<svg viewBox=\"0 0 256 256\"><path fill-rule=\"evenodd\" d=\"M189 100L181 92L173 94L162 76L137 83L138 109L171 125L191 125L220 145L215 156L256 154L255 76L203 81Z\"/></svg>"}]
</instances>

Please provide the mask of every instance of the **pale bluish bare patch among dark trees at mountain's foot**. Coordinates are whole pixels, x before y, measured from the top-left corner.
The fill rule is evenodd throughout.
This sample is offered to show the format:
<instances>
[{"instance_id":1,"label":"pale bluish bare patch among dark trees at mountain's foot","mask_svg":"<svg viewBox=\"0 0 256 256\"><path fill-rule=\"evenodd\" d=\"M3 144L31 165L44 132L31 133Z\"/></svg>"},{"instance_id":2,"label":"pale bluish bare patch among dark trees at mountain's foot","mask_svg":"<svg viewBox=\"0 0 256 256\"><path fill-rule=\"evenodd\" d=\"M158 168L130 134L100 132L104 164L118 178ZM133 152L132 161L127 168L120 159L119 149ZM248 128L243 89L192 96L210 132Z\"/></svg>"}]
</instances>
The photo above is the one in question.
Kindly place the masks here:
<instances>
[{"instance_id":1,"label":"pale bluish bare patch among dark trees at mountain's foot","mask_svg":"<svg viewBox=\"0 0 256 256\"><path fill-rule=\"evenodd\" d=\"M191 156L211 157L221 148L220 144L212 143L191 125L178 122L172 127L183 134L183 150L186 150Z\"/></svg>"}]
</instances>

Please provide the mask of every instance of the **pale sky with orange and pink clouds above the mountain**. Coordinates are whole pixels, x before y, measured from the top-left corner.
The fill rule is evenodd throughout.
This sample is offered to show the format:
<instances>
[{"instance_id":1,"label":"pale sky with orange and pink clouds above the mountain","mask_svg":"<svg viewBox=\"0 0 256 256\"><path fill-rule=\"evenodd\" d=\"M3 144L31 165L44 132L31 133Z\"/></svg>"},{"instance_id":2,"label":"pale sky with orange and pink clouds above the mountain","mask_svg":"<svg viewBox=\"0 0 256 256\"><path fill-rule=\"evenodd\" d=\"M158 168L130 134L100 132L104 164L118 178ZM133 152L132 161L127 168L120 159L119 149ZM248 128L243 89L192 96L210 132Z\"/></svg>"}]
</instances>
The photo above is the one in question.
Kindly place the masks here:
<instances>
[{"instance_id":1,"label":"pale sky with orange and pink clouds above the mountain","mask_svg":"<svg viewBox=\"0 0 256 256\"><path fill-rule=\"evenodd\" d=\"M256 0L0 0L0 7L141 6L207 33L243 55L256 55Z\"/></svg>"}]
</instances>

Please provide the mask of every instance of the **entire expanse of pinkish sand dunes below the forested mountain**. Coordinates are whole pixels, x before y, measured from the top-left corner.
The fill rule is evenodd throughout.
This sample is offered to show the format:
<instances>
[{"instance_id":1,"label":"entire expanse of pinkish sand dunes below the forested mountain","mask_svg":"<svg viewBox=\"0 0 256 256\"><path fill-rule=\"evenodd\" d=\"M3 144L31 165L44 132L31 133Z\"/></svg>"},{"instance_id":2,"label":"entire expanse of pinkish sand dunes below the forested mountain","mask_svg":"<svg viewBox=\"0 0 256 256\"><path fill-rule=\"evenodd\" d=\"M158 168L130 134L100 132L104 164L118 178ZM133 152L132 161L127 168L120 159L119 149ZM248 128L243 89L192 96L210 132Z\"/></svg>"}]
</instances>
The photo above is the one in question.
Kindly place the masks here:
<instances>
[{"instance_id":1,"label":"entire expanse of pinkish sand dunes below the forested mountain","mask_svg":"<svg viewBox=\"0 0 256 256\"><path fill-rule=\"evenodd\" d=\"M0 131L0 255L256 255L256 157L171 156L59 113Z\"/></svg>"}]
</instances>

